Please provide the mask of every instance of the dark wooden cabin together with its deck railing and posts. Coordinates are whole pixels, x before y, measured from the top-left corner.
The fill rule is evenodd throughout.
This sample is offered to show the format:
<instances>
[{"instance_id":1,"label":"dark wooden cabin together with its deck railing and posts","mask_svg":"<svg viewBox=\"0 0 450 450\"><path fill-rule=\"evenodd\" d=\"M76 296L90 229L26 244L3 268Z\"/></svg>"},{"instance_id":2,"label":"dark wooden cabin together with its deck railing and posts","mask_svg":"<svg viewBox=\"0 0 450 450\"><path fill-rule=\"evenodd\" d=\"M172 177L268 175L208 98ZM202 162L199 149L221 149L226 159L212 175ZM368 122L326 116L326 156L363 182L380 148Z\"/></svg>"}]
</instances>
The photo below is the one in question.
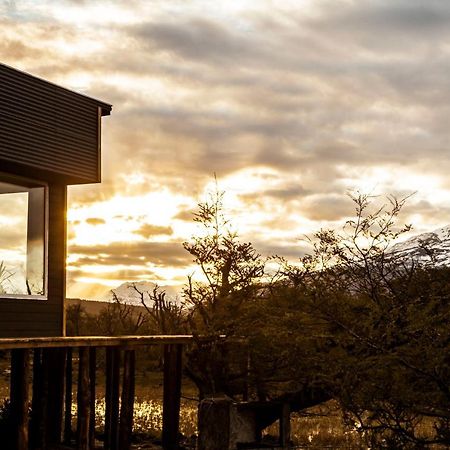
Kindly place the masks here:
<instances>
[{"instance_id":1,"label":"dark wooden cabin together with its deck railing and posts","mask_svg":"<svg viewBox=\"0 0 450 450\"><path fill-rule=\"evenodd\" d=\"M100 438L105 450L130 450L135 350L150 345L164 347L162 445L179 448L182 354L192 336L64 336L67 186L100 181L101 118L110 112L111 105L0 64L0 351L11 352L0 449L98 448L102 352Z\"/></svg>"}]
</instances>

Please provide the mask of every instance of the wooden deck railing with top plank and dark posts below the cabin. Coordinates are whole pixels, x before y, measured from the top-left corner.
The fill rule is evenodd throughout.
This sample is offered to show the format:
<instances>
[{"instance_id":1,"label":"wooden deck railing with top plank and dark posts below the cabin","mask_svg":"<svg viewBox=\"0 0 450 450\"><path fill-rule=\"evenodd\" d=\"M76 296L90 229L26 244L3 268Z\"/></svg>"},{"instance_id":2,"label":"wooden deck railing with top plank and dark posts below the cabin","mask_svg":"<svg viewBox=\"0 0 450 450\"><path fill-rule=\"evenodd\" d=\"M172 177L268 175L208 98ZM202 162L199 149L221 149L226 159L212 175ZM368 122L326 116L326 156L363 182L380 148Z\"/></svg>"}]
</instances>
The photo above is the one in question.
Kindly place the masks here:
<instances>
[{"instance_id":1,"label":"wooden deck railing with top plank and dark posts below the cabin","mask_svg":"<svg viewBox=\"0 0 450 450\"><path fill-rule=\"evenodd\" d=\"M178 448L183 346L181 336L88 336L0 339L11 351L10 441L14 450L95 448L97 356L105 349L105 450L131 446L135 390L135 351L164 347L164 450ZM72 432L73 359L78 352L77 422ZM120 389L121 387L121 389ZM31 410L30 410L31 405ZM30 412L29 412L30 411Z\"/></svg>"}]
</instances>

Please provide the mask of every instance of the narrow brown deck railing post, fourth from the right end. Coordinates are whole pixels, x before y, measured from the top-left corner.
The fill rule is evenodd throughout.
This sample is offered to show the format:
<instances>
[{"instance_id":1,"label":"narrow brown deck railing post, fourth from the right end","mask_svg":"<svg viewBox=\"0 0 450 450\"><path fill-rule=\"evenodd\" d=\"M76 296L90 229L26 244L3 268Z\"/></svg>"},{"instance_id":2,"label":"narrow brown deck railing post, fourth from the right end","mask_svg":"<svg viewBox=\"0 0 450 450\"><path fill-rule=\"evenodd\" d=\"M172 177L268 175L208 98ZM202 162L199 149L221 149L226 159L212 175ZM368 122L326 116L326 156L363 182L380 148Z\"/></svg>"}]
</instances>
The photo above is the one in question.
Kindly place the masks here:
<instances>
[{"instance_id":1,"label":"narrow brown deck railing post, fourth from the right end","mask_svg":"<svg viewBox=\"0 0 450 450\"><path fill-rule=\"evenodd\" d=\"M77 393L77 450L89 450L89 348L79 348Z\"/></svg>"}]
</instances>

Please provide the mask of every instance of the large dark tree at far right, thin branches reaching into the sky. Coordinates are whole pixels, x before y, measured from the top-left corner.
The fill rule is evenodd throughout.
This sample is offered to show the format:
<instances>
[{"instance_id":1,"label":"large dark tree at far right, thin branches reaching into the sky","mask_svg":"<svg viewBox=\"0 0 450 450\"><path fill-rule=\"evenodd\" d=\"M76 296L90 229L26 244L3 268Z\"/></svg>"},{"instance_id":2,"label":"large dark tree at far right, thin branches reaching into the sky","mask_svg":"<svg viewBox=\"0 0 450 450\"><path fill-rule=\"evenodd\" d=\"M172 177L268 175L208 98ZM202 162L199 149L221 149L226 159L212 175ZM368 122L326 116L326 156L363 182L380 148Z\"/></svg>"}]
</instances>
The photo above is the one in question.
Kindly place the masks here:
<instances>
[{"instance_id":1,"label":"large dark tree at far right, thin branches reaching into the sky","mask_svg":"<svg viewBox=\"0 0 450 450\"><path fill-rule=\"evenodd\" d=\"M327 324L319 378L347 423L375 448L448 445L450 271L391 252L406 199L321 230L313 252L286 274L305 311ZM432 262L432 259L430 260Z\"/></svg>"}]
</instances>

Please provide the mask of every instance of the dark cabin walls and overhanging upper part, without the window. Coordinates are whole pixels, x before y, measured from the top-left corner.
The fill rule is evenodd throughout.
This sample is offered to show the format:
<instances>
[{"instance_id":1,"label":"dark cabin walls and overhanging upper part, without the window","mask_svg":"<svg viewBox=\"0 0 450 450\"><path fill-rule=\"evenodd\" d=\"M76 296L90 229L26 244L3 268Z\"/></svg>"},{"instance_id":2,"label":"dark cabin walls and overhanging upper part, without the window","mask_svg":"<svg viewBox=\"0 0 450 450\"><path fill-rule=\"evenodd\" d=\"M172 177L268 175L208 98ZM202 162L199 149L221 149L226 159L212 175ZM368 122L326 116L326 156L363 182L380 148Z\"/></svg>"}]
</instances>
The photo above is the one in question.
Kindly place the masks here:
<instances>
[{"instance_id":1,"label":"dark cabin walls and overhanging upper part, without the window","mask_svg":"<svg viewBox=\"0 0 450 450\"><path fill-rule=\"evenodd\" d=\"M101 117L110 112L0 64L0 173L48 186L47 296L0 296L0 337L65 333L67 186L100 181Z\"/></svg>"}]
</instances>

